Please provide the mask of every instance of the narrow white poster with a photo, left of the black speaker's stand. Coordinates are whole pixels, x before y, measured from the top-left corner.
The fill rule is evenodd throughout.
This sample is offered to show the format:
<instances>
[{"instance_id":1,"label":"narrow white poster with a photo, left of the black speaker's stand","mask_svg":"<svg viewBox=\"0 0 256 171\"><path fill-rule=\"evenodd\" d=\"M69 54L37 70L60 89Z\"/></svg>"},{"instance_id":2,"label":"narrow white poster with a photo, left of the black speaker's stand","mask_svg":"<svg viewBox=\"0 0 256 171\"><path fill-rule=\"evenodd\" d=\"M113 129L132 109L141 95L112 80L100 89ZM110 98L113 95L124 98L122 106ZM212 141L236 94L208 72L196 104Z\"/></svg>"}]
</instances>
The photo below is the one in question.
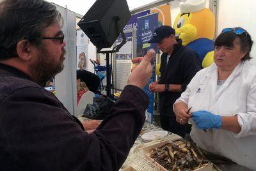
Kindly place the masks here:
<instances>
[{"instance_id":1,"label":"narrow white poster with a photo, left of the black speaker's stand","mask_svg":"<svg viewBox=\"0 0 256 171\"><path fill-rule=\"evenodd\" d=\"M76 46L76 53L77 53L77 70L87 70L88 66L88 43L89 38L86 34L81 30L77 30L77 46Z\"/></svg>"}]
</instances>

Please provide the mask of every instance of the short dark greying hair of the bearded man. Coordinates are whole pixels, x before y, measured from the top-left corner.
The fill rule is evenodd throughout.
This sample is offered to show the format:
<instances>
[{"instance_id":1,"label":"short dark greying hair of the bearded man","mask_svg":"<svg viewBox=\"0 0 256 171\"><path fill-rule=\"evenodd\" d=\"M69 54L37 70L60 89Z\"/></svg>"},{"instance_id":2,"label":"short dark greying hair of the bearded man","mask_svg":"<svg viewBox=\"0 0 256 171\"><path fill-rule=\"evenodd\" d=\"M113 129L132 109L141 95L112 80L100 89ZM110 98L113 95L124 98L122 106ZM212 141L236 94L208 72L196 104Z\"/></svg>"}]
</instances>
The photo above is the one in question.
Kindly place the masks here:
<instances>
[{"instance_id":1,"label":"short dark greying hair of the bearded man","mask_svg":"<svg viewBox=\"0 0 256 171\"><path fill-rule=\"evenodd\" d=\"M4 0L0 3L0 60L17 56L16 46L26 39L40 46L44 29L61 22L56 6L43 0Z\"/></svg>"}]
</instances>

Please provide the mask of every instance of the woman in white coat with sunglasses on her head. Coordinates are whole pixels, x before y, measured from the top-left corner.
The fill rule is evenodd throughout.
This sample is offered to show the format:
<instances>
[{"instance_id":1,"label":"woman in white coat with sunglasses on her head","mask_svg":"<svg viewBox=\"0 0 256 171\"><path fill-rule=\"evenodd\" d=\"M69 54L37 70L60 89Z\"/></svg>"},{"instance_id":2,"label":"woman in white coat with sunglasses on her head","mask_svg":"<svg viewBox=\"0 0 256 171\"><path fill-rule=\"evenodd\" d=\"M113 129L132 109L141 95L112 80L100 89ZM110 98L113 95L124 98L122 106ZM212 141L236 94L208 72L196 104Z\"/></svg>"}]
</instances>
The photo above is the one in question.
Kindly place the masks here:
<instances>
[{"instance_id":1,"label":"woman in white coat with sunglasses on her head","mask_svg":"<svg viewBox=\"0 0 256 171\"><path fill-rule=\"evenodd\" d=\"M250 34L241 27L223 29L214 43L214 63L196 73L173 110L180 124L191 118L190 135L199 147L256 170L252 44Z\"/></svg>"}]
</instances>

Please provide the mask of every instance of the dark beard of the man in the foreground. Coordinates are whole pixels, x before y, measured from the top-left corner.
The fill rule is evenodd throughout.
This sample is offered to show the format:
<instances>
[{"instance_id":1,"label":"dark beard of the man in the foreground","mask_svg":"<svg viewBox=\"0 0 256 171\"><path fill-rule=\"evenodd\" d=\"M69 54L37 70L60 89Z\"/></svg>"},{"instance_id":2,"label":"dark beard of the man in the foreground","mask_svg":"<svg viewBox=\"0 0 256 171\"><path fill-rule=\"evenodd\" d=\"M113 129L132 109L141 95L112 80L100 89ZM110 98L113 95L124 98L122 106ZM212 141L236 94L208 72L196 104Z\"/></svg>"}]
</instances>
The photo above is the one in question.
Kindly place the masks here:
<instances>
[{"instance_id":1,"label":"dark beard of the man in the foreground","mask_svg":"<svg viewBox=\"0 0 256 171\"><path fill-rule=\"evenodd\" d=\"M29 68L33 81L42 87L45 87L48 80L63 70L65 54L66 50L65 48L62 48L60 61L56 63L56 61L52 59L49 52L44 47L41 47L40 52L38 53L37 61L31 64Z\"/></svg>"}]
</instances>

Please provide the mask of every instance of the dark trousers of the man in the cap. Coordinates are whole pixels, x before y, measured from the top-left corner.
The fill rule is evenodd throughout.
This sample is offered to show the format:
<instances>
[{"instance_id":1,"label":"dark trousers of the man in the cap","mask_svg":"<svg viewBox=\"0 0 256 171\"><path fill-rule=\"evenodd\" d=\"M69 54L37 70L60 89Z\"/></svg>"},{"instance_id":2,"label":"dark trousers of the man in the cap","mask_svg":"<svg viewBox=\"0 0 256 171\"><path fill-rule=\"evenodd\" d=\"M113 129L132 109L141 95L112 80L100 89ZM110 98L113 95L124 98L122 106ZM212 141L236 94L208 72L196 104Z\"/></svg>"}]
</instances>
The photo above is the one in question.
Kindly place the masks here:
<instances>
[{"instance_id":1,"label":"dark trousers of the man in the cap","mask_svg":"<svg viewBox=\"0 0 256 171\"><path fill-rule=\"evenodd\" d=\"M180 124L176 122L176 117L169 117L160 114L160 123L163 130L170 131L180 137L185 137L188 124Z\"/></svg>"}]
</instances>

